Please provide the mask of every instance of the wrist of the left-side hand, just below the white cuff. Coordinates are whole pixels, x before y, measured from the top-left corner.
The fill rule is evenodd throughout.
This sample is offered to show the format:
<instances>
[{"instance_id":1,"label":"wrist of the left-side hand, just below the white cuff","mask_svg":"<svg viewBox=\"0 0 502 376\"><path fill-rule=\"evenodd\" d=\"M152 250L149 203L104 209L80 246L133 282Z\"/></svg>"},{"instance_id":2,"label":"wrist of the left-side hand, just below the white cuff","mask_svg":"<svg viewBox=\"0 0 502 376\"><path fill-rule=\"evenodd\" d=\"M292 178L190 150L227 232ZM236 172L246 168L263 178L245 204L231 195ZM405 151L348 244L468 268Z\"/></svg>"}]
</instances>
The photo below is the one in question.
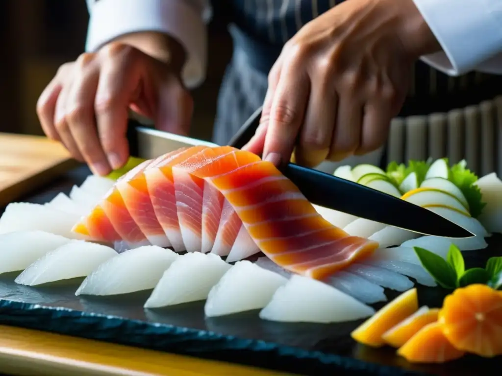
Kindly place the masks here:
<instances>
[{"instance_id":1,"label":"wrist of the left-side hand, just below the white cuff","mask_svg":"<svg viewBox=\"0 0 502 376\"><path fill-rule=\"evenodd\" d=\"M181 72L186 62L186 51L181 43L167 34L159 32L130 33L111 42L132 46L158 61L169 64L176 72Z\"/></svg>"}]
</instances>

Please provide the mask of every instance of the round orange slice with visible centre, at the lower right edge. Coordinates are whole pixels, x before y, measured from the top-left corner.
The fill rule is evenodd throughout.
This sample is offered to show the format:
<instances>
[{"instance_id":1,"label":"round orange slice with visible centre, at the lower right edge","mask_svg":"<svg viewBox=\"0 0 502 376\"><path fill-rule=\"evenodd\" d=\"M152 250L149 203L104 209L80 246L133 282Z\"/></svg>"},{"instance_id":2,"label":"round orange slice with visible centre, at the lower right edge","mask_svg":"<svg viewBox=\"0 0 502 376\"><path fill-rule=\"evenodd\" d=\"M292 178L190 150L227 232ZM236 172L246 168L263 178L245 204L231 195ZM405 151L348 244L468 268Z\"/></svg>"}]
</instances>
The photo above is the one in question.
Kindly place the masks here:
<instances>
[{"instance_id":1,"label":"round orange slice with visible centre, at the lower right edge","mask_svg":"<svg viewBox=\"0 0 502 376\"><path fill-rule=\"evenodd\" d=\"M456 289L439 311L443 333L459 350L502 355L502 293L481 285Z\"/></svg>"}]
</instances>

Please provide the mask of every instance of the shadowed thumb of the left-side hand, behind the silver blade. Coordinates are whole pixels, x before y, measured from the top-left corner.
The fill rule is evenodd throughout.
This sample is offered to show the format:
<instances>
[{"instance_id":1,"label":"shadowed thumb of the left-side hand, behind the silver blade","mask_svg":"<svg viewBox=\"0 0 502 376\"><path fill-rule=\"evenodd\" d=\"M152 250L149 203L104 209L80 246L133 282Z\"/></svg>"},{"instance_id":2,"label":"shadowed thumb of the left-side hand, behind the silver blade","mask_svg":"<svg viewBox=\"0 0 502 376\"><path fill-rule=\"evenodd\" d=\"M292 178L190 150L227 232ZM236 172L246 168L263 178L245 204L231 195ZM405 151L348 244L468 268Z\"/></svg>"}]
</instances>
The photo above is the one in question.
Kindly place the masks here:
<instances>
[{"instance_id":1,"label":"shadowed thumb of the left-side hand, behind the silver blade","mask_svg":"<svg viewBox=\"0 0 502 376\"><path fill-rule=\"evenodd\" d=\"M171 77L158 89L157 129L188 135L193 114L193 99L178 78Z\"/></svg>"}]
</instances>

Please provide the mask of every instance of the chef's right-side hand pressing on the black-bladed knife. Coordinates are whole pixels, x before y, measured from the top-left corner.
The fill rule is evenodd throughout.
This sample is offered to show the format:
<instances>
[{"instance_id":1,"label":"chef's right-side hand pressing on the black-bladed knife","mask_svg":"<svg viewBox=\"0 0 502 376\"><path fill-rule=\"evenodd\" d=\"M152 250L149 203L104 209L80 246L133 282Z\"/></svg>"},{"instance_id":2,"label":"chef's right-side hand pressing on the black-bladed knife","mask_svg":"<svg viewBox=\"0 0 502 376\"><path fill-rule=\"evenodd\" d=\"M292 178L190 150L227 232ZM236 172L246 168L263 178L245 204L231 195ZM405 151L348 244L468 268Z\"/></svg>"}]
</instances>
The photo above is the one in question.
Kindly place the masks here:
<instances>
[{"instance_id":1,"label":"chef's right-side hand pressing on the black-bladed knife","mask_svg":"<svg viewBox=\"0 0 502 376\"><path fill-rule=\"evenodd\" d=\"M261 125L245 146L275 164L315 166L380 147L412 63L440 47L412 0L348 0L305 25L269 74Z\"/></svg>"}]
</instances>

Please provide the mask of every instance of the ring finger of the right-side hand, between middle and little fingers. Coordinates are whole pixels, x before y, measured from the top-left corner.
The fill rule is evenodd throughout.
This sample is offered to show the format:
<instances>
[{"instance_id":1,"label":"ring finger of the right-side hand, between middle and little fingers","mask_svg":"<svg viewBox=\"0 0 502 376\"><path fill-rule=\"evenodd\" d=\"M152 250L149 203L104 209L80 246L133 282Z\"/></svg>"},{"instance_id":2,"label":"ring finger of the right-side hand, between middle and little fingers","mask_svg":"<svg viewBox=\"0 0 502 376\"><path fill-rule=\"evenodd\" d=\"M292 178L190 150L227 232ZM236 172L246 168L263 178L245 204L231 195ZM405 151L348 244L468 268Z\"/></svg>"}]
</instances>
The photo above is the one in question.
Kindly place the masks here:
<instances>
[{"instance_id":1,"label":"ring finger of the right-side hand, between middle and little fingers","mask_svg":"<svg viewBox=\"0 0 502 376\"><path fill-rule=\"evenodd\" d=\"M352 155L361 137L363 104L349 92L340 95L338 102L336 126L327 158L332 161Z\"/></svg>"}]
</instances>

